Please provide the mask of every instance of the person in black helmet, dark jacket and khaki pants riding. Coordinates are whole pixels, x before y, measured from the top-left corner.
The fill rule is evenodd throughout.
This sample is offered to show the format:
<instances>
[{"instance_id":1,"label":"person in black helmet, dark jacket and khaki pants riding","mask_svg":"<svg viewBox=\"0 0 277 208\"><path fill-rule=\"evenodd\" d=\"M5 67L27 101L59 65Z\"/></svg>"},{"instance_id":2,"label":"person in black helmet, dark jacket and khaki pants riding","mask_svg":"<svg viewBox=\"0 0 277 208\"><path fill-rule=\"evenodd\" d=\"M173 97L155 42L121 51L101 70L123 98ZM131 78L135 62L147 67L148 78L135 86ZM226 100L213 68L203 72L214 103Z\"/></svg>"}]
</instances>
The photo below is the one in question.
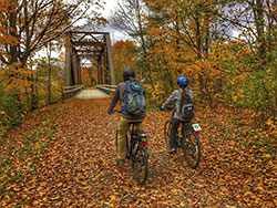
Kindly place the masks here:
<instances>
[{"instance_id":1,"label":"person in black helmet, dark jacket and khaki pants riding","mask_svg":"<svg viewBox=\"0 0 277 208\"><path fill-rule=\"evenodd\" d=\"M124 94L126 91L126 81L130 79L135 79L135 72L134 70L126 67L123 71L123 80L124 82L120 83L117 85L117 89L115 90L112 102L110 104L110 107L107 110L107 114L114 113L114 107L120 101L121 104L124 103ZM121 107L123 110L123 106ZM126 133L130 128L131 122L137 122L135 124L135 129L141 129L142 122L145 118L145 113L142 115L131 115L124 111L122 111L122 116L119 124L119 138L117 138L117 153L116 153L116 163L119 165L124 164L124 159L126 156Z\"/></svg>"}]
</instances>

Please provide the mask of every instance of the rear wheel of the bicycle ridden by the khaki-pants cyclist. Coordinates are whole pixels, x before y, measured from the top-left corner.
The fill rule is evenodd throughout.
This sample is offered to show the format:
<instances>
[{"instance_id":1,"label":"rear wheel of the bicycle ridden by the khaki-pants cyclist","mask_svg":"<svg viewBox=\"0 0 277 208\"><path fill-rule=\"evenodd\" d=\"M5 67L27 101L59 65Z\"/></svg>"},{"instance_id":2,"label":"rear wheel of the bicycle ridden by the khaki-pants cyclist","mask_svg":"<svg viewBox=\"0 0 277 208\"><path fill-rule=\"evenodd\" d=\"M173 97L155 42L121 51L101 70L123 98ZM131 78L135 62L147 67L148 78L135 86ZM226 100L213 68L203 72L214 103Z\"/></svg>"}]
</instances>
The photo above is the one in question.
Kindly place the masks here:
<instances>
[{"instance_id":1,"label":"rear wheel of the bicycle ridden by the khaki-pants cyclist","mask_svg":"<svg viewBox=\"0 0 277 208\"><path fill-rule=\"evenodd\" d=\"M148 175L148 156L146 147L137 144L137 149L132 158L134 178L138 185L143 185Z\"/></svg>"}]
</instances>

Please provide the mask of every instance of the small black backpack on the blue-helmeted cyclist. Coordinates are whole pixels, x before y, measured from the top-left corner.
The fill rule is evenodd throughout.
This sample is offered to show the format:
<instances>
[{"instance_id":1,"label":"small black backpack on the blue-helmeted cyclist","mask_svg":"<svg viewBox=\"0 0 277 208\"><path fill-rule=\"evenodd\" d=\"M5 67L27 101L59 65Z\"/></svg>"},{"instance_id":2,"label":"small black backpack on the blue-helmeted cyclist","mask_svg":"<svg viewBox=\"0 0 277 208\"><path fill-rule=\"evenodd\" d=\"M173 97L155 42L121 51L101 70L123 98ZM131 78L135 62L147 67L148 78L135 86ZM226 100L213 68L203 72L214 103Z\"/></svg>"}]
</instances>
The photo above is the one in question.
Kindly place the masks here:
<instances>
[{"instance_id":1,"label":"small black backpack on the blue-helmeted cyclist","mask_svg":"<svg viewBox=\"0 0 277 208\"><path fill-rule=\"evenodd\" d=\"M195 114L193 108L193 101L188 94L188 90L184 89L185 93L181 92L181 102L179 102L179 115L181 118L187 122L191 122Z\"/></svg>"}]
</instances>

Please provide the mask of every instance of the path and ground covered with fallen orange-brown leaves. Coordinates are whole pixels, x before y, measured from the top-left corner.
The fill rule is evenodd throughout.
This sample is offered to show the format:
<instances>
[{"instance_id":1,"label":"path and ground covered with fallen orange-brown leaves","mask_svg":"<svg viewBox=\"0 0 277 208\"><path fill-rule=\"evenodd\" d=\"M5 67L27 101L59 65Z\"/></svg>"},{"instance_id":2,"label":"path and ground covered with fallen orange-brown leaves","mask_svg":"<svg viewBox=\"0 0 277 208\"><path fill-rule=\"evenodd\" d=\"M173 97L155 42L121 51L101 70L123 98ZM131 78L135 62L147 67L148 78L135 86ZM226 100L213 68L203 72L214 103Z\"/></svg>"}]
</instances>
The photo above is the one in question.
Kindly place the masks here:
<instances>
[{"instance_id":1,"label":"path and ground covered with fallen orange-brown leaves","mask_svg":"<svg viewBox=\"0 0 277 208\"><path fill-rule=\"evenodd\" d=\"M276 207L276 139L234 110L197 110L201 166L165 152L168 112L148 112L150 176L115 165L119 115L109 100L75 100L32 113L0 147L0 207Z\"/></svg>"}]
</instances>

